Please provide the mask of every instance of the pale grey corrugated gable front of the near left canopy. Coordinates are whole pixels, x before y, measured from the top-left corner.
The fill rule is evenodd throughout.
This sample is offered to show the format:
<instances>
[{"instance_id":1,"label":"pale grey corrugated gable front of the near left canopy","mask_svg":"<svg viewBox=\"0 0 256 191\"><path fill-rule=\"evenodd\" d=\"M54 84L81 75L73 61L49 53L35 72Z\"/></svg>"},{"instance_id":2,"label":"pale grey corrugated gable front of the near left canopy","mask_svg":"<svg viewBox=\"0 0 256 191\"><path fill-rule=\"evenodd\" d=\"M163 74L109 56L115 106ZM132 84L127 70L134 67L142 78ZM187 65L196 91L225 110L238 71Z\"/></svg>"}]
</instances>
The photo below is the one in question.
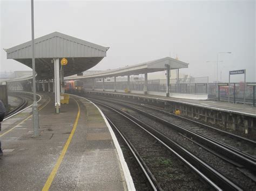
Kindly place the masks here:
<instances>
[{"instance_id":1,"label":"pale grey corrugated gable front of the near left canopy","mask_svg":"<svg viewBox=\"0 0 256 191\"><path fill-rule=\"evenodd\" d=\"M107 47L53 32L35 39L35 58L104 57ZM6 50L8 59L32 58L31 41Z\"/></svg>"}]
</instances>

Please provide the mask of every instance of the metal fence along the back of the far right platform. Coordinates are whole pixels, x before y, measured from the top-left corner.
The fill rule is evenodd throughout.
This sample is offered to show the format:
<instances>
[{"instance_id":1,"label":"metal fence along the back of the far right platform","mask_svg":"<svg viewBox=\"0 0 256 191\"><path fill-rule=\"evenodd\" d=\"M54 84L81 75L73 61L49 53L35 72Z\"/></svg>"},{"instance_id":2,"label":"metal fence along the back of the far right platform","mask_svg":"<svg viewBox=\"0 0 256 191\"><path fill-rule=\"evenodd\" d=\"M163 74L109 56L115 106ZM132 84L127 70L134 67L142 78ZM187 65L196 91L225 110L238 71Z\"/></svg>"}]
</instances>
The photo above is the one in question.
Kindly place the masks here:
<instances>
[{"instance_id":1,"label":"metal fence along the back of the far right platform","mask_svg":"<svg viewBox=\"0 0 256 191\"><path fill-rule=\"evenodd\" d=\"M144 80L130 81L130 90L144 91ZM114 89L114 82L104 82L105 89ZM92 89L92 80L86 81L84 87ZM124 90L127 81L117 81L116 89ZM103 82L95 82L95 89L103 89ZM166 79L148 80L148 91L166 92ZM234 103L253 103L253 86L247 83L230 83L230 87L221 86L218 93L217 83L208 83L208 77L192 77L188 79L170 79L170 93L208 94L208 98ZM254 95L256 97L256 95ZM254 102L255 98L254 98Z\"/></svg>"}]
</instances>

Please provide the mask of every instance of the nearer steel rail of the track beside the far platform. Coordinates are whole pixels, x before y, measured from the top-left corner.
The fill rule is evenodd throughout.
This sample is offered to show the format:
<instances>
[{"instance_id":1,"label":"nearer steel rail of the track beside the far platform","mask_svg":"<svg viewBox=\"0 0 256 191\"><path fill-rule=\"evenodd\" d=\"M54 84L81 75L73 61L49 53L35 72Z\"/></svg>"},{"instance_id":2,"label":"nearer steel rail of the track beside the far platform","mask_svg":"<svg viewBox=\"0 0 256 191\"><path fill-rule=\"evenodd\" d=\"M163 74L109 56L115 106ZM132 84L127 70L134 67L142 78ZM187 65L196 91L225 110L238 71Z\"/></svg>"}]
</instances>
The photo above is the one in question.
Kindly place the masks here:
<instances>
[{"instance_id":1,"label":"nearer steel rail of the track beside the far platform","mask_svg":"<svg viewBox=\"0 0 256 191\"><path fill-rule=\"evenodd\" d=\"M109 101L109 102L111 102L111 101ZM140 114L143 114L143 115L148 116L152 119L155 119L156 121L158 121L158 122L160 122L164 125L170 126L171 128L173 128L173 129L175 129L175 130L177 130L181 133L184 133L186 135L189 135L190 137L193 137L194 140L197 140L201 144L207 145L208 147L212 148L212 150L214 150L215 152L221 153L222 155L224 155L228 159L231 159L231 160L237 162L241 166L246 166L248 169L250 169L254 172L256 171L255 158L252 157L251 155L247 154L247 153L241 152L237 148L231 147L230 145L219 142L218 140L215 140L211 137L208 137L208 136L205 136L201 133L193 131L189 128L186 128L183 125L167 121L166 119L163 119L161 117L150 114L149 112L145 112L145 111L142 111L138 108L134 108L131 105L126 105L124 103L117 103L116 101L112 102L112 103L123 105L126 108L130 108L132 110L135 110L135 111L139 112Z\"/></svg>"}]
</instances>

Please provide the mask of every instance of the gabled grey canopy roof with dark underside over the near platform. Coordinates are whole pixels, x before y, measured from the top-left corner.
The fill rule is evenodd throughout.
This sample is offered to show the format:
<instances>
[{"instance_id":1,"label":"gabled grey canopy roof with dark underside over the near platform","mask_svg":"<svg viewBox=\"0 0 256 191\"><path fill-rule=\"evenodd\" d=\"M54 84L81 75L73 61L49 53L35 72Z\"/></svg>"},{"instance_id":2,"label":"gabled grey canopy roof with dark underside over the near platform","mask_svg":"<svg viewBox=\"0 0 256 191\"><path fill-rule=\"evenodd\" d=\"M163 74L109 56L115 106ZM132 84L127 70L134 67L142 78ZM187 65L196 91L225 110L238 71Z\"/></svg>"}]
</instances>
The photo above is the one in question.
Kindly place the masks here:
<instances>
[{"instance_id":1,"label":"gabled grey canopy roof with dark underside over the near platform","mask_svg":"<svg viewBox=\"0 0 256 191\"><path fill-rule=\"evenodd\" d=\"M106 56L107 49L109 48L59 32L37 38L35 39L37 80L53 78L53 58L68 60L68 65L63 68L64 76L70 76L97 65ZM5 51L7 59L14 59L32 68L31 41Z\"/></svg>"}]
</instances>

